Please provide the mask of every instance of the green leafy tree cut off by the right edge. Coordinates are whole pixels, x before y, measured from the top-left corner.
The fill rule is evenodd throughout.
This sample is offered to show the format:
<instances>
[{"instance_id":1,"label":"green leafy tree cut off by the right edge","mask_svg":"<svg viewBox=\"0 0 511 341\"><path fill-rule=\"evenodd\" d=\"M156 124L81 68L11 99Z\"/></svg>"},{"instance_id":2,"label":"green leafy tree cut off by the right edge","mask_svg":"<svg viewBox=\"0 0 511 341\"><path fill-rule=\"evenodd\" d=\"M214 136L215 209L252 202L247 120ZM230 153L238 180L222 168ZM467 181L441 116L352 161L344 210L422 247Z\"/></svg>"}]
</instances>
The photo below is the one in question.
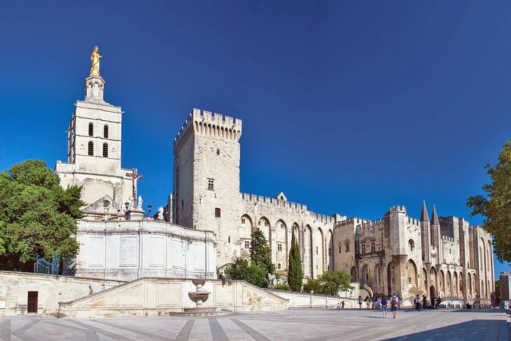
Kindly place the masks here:
<instances>
[{"instance_id":1,"label":"green leafy tree cut off by the right edge","mask_svg":"<svg viewBox=\"0 0 511 341\"><path fill-rule=\"evenodd\" d=\"M500 262L511 263L511 142L507 140L500 150L498 162L487 164L486 174L491 184L484 184L486 196L470 196L467 206L471 216L482 215L482 228L493 237L493 249Z\"/></svg>"}]
</instances>

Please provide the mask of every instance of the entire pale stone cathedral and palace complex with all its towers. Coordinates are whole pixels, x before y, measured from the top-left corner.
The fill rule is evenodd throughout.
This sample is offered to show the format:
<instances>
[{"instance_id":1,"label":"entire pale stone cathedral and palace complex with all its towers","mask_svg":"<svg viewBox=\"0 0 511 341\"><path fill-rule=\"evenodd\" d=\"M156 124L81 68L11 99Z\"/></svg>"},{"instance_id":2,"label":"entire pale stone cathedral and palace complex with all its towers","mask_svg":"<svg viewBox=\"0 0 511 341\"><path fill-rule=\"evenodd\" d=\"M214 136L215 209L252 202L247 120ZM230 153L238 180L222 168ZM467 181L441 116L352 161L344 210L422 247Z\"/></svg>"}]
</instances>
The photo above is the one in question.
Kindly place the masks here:
<instances>
[{"instance_id":1,"label":"entire pale stone cathedral and palace complex with all its towers","mask_svg":"<svg viewBox=\"0 0 511 341\"><path fill-rule=\"evenodd\" d=\"M99 58L97 70L93 70L92 60L90 77L85 80L85 101L76 103L71 117L68 161L57 161L55 166L62 186L83 186L87 203L87 217L78 222L77 238L83 246L74 264L76 273L109 277L122 270L129 279L201 273L213 277L215 270L229 266L236 257L249 257L251 233L260 228L281 274L288 268L294 232L306 278L335 269L351 273L353 282L374 293L399 293L407 299L416 293L490 298L494 291L491 236L480 226L470 226L463 218L440 217L434 206L429 215L426 203L420 219L409 217L404 206L396 205L381 219L369 221L311 212L307 205L288 201L282 192L272 198L240 193L241 119L206 110L193 109L174 139L174 188L165 210L160 210L165 215L159 212L158 217L144 217L141 197L137 204L140 175L136 169L121 168L122 112L120 107L104 102ZM137 220L146 224L148 235L156 231L162 240L146 236L145 241L133 240L129 248L123 247L122 228L118 226ZM98 223L103 225L94 225ZM106 233L106 239L99 238L104 224L107 230L111 226L111 239ZM171 233L172 228L175 231ZM130 233L143 238L134 230ZM186 233L191 237L182 238ZM166 241L169 238L174 241ZM202 244L186 249L186 242L180 244L179 238L195 238ZM137 242L148 244L137 248ZM171 256L153 261L151 255L156 256L151 242ZM115 245L117 255L113 252L110 261L108 256L97 260L97 254L107 254L106 250ZM201 247L206 247L205 253L199 252ZM120 263L123 250L139 254L131 268ZM176 263L172 254L183 254L181 263Z\"/></svg>"}]
</instances>

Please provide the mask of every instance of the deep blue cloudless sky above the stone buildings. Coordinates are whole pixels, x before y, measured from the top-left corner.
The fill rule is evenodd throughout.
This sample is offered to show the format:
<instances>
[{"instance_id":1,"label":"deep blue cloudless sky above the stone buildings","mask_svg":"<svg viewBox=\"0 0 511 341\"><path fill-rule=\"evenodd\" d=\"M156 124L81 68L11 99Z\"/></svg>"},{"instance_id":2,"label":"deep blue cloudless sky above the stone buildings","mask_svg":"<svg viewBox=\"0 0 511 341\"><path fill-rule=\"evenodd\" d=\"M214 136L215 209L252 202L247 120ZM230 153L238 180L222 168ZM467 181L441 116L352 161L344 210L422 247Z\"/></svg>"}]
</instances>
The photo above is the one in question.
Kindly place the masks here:
<instances>
[{"instance_id":1,"label":"deep blue cloudless sky above the stone buildings","mask_svg":"<svg viewBox=\"0 0 511 341\"><path fill-rule=\"evenodd\" d=\"M484 6L486 5L486 6ZM243 120L241 191L325 215L390 205L469 218L511 138L508 1L9 1L0 13L0 170L66 159L99 45L144 204L172 191L192 108ZM511 270L496 262L496 273Z\"/></svg>"}]
</instances>

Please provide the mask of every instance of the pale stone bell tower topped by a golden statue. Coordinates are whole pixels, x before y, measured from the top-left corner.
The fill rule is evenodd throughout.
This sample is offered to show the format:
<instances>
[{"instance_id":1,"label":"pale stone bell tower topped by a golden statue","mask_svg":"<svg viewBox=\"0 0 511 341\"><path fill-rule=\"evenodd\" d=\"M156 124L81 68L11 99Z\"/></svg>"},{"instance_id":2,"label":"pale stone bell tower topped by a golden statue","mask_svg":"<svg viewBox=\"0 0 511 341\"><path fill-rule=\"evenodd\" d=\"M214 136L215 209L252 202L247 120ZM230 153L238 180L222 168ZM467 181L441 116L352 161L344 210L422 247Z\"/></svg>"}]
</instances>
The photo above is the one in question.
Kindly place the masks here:
<instances>
[{"instance_id":1,"label":"pale stone bell tower topped by a golden statue","mask_svg":"<svg viewBox=\"0 0 511 341\"><path fill-rule=\"evenodd\" d=\"M105 81L99 75L102 56L97 50L92 52L90 75L85 78L85 100L76 101L68 126L67 162L55 165L62 187L83 187L87 219L124 212L133 188L132 177L127 175L133 170L121 168L123 111L104 101Z\"/></svg>"}]
</instances>

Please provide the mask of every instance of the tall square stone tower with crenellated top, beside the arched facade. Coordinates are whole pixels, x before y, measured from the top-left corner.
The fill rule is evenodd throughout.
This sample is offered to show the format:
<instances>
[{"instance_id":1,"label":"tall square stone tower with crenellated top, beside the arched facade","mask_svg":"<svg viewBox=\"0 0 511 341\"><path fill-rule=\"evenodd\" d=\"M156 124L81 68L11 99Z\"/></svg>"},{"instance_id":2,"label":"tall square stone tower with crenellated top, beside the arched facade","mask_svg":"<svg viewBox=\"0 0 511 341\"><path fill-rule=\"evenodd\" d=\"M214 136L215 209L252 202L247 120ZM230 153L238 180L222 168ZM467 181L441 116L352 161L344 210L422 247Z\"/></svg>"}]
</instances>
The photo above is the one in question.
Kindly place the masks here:
<instances>
[{"instance_id":1,"label":"tall square stone tower with crenellated top, beside the arched facade","mask_svg":"<svg viewBox=\"0 0 511 341\"><path fill-rule=\"evenodd\" d=\"M216 233L217 263L239 256L241 119L193 109L174 140L173 222Z\"/></svg>"}]
</instances>

